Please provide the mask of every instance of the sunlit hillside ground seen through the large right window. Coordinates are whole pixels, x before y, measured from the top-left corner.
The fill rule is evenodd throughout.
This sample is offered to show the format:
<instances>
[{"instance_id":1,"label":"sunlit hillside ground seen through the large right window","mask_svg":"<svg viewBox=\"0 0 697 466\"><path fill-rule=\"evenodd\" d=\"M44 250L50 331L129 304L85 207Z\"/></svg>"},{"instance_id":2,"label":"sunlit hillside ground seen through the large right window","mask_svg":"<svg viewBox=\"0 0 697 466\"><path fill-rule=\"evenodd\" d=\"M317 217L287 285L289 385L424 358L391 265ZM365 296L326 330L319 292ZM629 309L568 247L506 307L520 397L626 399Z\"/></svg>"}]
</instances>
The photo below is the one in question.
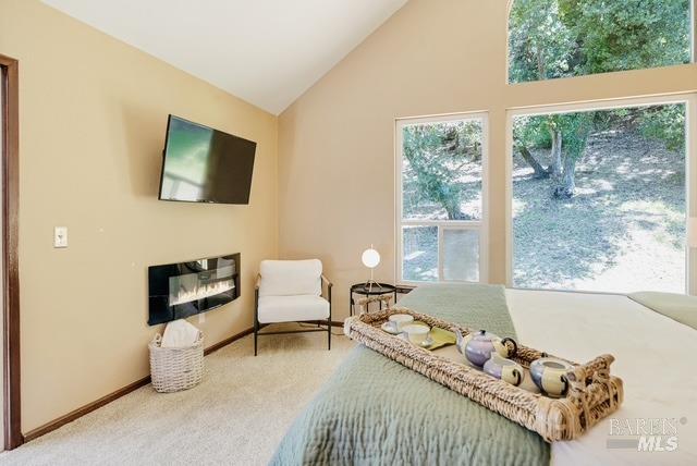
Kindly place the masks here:
<instances>
[{"instance_id":1,"label":"sunlit hillside ground seen through the large right window","mask_svg":"<svg viewBox=\"0 0 697 466\"><path fill-rule=\"evenodd\" d=\"M660 109L680 119L670 107ZM673 122L670 138L677 147L669 148L668 126L641 132L637 112L603 116L597 118L610 123L588 135L571 197L554 196L559 182L536 177L514 152L514 284L684 293L685 151L674 144L684 140L684 121ZM531 152L542 167L551 163L549 148Z\"/></svg>"}]
</instances>

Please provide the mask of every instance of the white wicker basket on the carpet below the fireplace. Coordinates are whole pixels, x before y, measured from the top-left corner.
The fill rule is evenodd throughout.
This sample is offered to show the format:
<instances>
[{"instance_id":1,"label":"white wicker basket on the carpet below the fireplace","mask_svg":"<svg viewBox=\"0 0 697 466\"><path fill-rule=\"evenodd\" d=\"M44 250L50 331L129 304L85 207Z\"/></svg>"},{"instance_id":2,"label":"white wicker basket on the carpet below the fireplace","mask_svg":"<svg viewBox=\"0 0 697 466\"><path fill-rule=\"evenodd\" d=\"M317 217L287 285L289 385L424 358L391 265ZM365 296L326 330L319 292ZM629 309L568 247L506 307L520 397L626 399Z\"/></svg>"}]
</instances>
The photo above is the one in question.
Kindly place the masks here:
<instances>
[{"instance_id":1,"label":"white wicker basket on the carpet below the fireplace","mask_svg":"<svg viewBox=\"0 0 697 466\"><path fill-rule=\"evenodd\" d=\"M204 334L193 346L163 348L162 335L155 335L150 348L150 378L152 388L160 393L188 390L200 383L204 376Z\"/></svg>"}]
</instances>

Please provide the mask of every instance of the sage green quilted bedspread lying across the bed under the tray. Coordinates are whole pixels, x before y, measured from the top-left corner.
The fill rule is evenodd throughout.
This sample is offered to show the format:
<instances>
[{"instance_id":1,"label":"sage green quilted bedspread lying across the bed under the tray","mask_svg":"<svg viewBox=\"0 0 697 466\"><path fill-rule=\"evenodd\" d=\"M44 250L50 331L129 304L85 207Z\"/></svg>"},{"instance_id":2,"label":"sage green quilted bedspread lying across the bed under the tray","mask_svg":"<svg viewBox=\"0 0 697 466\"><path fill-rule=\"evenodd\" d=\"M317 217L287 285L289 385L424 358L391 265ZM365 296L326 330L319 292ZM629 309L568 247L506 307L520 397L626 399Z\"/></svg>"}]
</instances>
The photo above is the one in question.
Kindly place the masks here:
<instances>
[{"instance_id":1,"label":"sage green quilted bedspread lying across the bed under the tray","mask_svg":"<svg viewBox=\"0 0 697 466\"><path fill-rule=\"evenodd\" d=\"M421 286L400 305L514 336L503 287ZM547 465L538 434L357 346L279 445L273 465Z\"/></svg>"}]
</instances>

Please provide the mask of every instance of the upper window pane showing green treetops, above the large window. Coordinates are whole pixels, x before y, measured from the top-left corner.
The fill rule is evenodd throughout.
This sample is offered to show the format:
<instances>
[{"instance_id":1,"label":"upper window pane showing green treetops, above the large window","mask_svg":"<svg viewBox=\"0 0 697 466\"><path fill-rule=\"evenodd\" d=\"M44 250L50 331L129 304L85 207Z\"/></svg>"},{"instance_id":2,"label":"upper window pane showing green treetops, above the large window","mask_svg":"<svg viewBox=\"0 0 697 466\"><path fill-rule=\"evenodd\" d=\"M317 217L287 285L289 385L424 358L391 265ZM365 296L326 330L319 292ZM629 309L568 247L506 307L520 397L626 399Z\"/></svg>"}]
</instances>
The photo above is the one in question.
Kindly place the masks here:
<instances>
[{"instance_id":1,"label":"upper window pane showing green treetops, above the large window","mask_svg":"<svg viewBox=\"0 0 697 466\"><path fill-rule=\"evenodd\" d=\"M509 82L689 63L692 0L514 0Z\"/></svg>"}]
</instances>

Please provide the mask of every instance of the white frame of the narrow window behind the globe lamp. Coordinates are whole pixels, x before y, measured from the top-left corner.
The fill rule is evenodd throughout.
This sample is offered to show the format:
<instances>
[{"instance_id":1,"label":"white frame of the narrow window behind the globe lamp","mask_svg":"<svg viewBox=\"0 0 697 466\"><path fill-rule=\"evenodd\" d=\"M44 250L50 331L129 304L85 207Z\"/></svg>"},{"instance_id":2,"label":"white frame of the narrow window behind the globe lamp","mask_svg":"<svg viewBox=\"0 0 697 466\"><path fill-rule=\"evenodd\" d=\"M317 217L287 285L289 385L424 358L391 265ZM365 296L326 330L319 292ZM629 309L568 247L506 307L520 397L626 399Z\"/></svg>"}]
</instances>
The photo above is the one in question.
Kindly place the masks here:
<instances>
[{"instance_id":1,"label":"white frame of the narrow window behind the globe lamp","mask_svg":"<svg viewBox=\"0 0 697 466\"><path fill-rule=\"evenodd\" d=\"M480 220L404 220L403 212L403 134L406 126L444 123L450 121L481 121L481 219ZM395 216L394 216L394 237L395 237L395 283L398 285L417 286L428 283L488 283L489 282L489 112L473 111L461 113L449 113L432 116L409 116L399 118L394 121L394 174L395 174ZM438 280L433 282L404 280L403 273L403 226L438 226ZM444 280L443 258L444 230L475 230L479 232L479 281Z\"/></svg>"}]
</instances>

